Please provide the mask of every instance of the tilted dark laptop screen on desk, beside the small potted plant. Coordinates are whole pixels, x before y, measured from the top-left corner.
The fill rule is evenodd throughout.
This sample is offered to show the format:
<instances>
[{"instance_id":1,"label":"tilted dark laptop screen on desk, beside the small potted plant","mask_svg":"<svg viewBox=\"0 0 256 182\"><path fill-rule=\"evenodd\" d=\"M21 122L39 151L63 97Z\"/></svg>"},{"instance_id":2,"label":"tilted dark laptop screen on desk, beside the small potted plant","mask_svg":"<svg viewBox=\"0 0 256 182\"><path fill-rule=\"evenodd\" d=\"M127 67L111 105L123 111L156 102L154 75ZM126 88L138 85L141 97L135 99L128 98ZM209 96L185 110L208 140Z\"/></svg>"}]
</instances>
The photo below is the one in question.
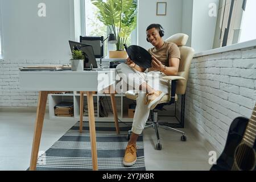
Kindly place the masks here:
<instances>
[{"instance_id":1,"label":"tilted dark laptop screen on desk, beside the small potted plant","mask_svg":"<svg viewBox=\"0 0 256 182\"><path fill-rule=\"evenodd\" d=\"M68 42L69 42L69 46L71 48L71 52L73 50L82 51L82 53L85 57L84 69L90 68L90 64L93 65L93 68L98 68L92 45L79 43L79 42L73 42L71 40L69 40Z\"/></svg>"}]
</instances>

